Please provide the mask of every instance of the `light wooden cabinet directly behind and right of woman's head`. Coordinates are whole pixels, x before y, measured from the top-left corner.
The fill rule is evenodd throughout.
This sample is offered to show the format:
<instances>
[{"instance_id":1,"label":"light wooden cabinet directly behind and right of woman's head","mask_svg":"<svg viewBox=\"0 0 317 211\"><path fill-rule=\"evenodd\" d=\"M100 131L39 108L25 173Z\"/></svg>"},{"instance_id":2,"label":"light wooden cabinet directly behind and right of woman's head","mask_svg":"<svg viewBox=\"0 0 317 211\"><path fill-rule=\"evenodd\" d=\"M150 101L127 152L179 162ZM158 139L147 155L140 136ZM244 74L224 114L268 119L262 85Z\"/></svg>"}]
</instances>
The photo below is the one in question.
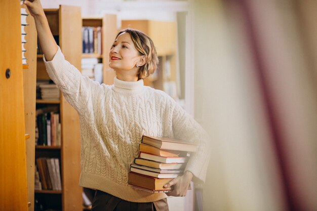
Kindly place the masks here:
<instances>
[{"instance_id":1,"label":"light wooden cabinet directly behind and right of woman's head","mask_svg":"<svg viewBox=\"0 0 317 211\"><path fill-rule=\"evenodd\" d=\"M159 68L144 80L144 85L168 92L164 83L177 83L177 24L168 21L122 20L122 28L134 28L147 34L156 47ZM162 35L164 33L164 35Z\"/></svg>"}]
</instances>

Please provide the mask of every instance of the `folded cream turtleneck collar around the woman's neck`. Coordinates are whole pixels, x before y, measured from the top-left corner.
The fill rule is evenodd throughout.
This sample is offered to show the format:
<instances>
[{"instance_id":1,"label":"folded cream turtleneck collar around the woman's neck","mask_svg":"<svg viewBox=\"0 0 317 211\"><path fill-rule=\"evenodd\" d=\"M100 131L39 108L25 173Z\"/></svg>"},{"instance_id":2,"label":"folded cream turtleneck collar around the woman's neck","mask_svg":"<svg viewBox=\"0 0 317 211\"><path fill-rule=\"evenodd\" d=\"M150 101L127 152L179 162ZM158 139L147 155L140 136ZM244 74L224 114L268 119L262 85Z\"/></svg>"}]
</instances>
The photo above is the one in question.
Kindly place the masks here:
<instances>
[{"instance_id":1,"label":"folded cream turtleneck collar around the woman's neck","mask_svg":"<svg viewBox=\"0 0 317 211\"><path fill-rule=\"evenodd\" d=\"M143 79L138 81L124 81L117 77L113 79L113 91L124 95L135 95L142 92L144 87Z\"/></svg>"}]
</instances>

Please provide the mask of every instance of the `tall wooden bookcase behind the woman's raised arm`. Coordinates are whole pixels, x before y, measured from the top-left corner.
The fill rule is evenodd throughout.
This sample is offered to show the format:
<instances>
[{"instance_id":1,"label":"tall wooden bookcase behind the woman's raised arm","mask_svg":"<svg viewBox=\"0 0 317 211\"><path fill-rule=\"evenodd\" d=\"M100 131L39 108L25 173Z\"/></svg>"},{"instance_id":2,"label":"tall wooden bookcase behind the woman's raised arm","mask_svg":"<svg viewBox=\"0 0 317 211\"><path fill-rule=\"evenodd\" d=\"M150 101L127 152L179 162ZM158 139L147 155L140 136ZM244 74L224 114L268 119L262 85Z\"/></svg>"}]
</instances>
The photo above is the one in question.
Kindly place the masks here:
<instances>
[{"instance_id":1,"label":"tall wooden bookcase behind the woman's raised arm","mask_svg":"<svg viewBox=\"0 0 317 211\"><path fill-rule=\"evenodd\" d=\"M60 5L58 9L44 10L50 29L65 59L81 70L82 57L82 17L81 8ZM43 61L43 54L37 58L37 80L51 80ZM37 108L57 107L61 123L61 146L41 146L35 149L35 159L39 157L58 158L62 190L35 190L35 197L45 209L63 211L81 210L82 188L78 186L81 173L80 125L77 112L66 102L62 93L60 100L36 100ZM34 174L34 172L33 172Z\"/></svg>"}]
</instances>

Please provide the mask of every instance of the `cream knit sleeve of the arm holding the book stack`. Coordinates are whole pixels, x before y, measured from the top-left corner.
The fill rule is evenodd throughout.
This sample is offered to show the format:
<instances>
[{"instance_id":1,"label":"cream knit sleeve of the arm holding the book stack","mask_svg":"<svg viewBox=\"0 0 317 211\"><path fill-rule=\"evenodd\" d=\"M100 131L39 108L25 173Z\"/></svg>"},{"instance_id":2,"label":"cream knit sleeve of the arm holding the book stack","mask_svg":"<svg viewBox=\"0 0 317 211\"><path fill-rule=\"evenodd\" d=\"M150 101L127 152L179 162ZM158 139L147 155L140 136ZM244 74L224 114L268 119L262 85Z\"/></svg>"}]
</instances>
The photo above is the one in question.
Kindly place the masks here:
<instances>
[{"instance_id":1,"label":"cream knit sleeve of the arm holding the book stack","mask_svg":"<svg viewBox=\"0 0 317 211\"><path fill-rule=\"evenodd\" d=\"M185 171L193 174L193 182L204 183L210 158L209 136L180 105L175 104L172 117L174 137L198 144L197 151L190 153Z\"/></svg>"}]
</instances>

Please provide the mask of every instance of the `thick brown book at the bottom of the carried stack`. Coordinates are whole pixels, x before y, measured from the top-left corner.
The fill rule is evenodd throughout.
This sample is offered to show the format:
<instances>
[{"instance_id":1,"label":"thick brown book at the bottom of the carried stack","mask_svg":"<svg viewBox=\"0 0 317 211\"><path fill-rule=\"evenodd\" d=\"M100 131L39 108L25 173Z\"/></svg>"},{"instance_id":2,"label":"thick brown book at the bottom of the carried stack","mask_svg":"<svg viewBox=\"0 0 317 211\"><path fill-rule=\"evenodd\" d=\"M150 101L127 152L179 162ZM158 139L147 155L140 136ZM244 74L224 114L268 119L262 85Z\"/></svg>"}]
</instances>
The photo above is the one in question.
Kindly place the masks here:
<instances>
[{"instance_id":1,"label":"thick brown book at the bottom of the carried stack","mask_svg":"<svg viewBox=\"0 0 317 211\"><path fill-rule=\"evenodd\" d=\"M129 173L130 185L141 187L149 191L170 191L172 187L165 188L164 185L171 180L173 180L173 178L159 179L134 172Z\"/></svg>"}]
</instances>

